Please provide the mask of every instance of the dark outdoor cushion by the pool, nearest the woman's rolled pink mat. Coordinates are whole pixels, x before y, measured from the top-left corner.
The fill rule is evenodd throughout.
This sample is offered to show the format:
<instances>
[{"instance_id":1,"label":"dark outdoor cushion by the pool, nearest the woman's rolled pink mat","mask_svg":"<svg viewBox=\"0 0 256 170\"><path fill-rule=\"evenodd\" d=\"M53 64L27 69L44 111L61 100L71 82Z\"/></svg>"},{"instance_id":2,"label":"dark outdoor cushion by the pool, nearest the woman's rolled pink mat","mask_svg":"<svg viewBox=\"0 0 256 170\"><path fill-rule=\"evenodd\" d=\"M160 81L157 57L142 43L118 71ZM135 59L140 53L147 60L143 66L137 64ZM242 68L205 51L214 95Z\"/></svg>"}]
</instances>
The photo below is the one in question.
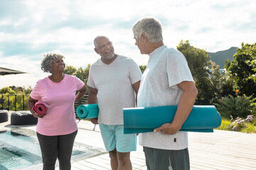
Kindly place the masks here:
<instances>
[{"instance_id":1,"label":"dark outdoor cushion by the pool, nearest the woman's rolled pink mat","mask_svg":"<svg viewBox=\"0 0 256 170\"><path fill-rule=\"evenodd\" d=\"M11 113L11 125L35 125L38 118L34 118L30 111Z\"/></svg>"}]
</instances>

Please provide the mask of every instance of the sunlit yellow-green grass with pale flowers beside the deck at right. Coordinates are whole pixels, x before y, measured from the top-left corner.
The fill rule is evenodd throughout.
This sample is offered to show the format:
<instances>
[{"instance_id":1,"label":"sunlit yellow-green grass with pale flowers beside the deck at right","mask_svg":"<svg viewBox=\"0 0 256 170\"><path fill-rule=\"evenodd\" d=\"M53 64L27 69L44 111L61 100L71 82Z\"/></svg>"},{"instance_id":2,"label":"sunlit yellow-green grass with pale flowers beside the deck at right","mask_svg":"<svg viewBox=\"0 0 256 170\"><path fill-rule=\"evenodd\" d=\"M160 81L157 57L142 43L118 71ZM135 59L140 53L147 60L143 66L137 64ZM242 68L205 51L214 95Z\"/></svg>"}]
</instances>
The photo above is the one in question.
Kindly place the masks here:
<instances>
[{"instance_id":1,"label":"sunlit yellow-green grass with pale flowers beside the deck at right","mask_svg":"<svg viewBox=\"0 0 256 170\"><path fill-rule=\"evenodd\" d=\"M256 120L248 121L247 119L236 118L236 120L228 120L223 118L220 127L216 128L217 130L229 130L236 132L247 132L247 133L256 133Z\"/></svg>"}]
</instances>

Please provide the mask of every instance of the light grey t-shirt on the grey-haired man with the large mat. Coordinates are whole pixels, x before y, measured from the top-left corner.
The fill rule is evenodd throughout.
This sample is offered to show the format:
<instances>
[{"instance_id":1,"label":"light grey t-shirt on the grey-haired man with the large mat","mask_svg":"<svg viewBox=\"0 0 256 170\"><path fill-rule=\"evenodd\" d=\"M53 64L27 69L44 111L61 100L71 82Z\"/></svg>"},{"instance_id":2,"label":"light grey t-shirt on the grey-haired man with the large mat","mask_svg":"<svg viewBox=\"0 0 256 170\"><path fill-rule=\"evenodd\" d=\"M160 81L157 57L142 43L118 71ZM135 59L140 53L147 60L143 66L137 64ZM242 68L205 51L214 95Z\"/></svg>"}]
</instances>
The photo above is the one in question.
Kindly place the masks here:
<instances>
[{"instance_id":1,"label":"light grey t-shirt on the grey-haired man with the large mat","mask_svg":"<svg viewBox=\"0 0 256 170\"><path fill-rule=\"evenodd\" d=\"M182 94L177 84L182 81L193 81L186 58L178 50L166 45L157 48L149 54L149 62L142 75L138 107L177 105ZM188 133L142 133L139 134L139 145L158 149L185 149L188 147Z\"/></svg>"}]
</instances>

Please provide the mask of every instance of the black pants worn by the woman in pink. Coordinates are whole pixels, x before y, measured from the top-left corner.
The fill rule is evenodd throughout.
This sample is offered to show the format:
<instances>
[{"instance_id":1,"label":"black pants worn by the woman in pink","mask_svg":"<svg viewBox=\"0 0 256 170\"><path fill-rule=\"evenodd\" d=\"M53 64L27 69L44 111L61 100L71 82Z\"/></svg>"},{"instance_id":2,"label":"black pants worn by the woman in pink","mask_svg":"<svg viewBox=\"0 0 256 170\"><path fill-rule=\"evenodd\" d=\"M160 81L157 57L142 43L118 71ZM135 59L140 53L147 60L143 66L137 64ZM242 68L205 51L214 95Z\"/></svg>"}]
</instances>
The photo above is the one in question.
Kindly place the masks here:
<instances>
[{"instance_id":1,"label":"black pants worn by the woman in pink","mask_svg":"<svg viewBox=\"0 0 256 170\"><path fill-rule=\"evenodd\" d=\"M55 169L58 158L60 170L71 169L71 154L78 130L68 135L46 136L36 133L43 157L43 170Z\"/></svg>"}]
</instances>

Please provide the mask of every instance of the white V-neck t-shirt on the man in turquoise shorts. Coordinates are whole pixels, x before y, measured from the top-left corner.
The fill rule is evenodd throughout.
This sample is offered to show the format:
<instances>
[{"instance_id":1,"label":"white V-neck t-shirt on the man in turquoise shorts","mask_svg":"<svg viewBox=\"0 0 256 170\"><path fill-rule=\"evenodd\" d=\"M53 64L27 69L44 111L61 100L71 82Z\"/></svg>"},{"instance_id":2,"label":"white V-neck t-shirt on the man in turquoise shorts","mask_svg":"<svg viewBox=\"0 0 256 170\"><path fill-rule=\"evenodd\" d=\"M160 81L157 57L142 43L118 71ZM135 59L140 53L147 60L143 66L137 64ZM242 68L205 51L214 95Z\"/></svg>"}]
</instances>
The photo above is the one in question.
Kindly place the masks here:
<instances>
[{"instance_id":1,"label":"white V-neck t-shirt on the man in turquoise shorts","mask_svg":"<svg viewBox=\"0 0 256 170\"><path fill-rule=\"evenodd\" d=\"M135 106L132 84L139 81L142 72L131 58L118 55L110 64L101 59L90 67L87 85L97 89L100 108L98 122L105 125L123 125L123 108Z\"/></svg>"}]
</instances>

